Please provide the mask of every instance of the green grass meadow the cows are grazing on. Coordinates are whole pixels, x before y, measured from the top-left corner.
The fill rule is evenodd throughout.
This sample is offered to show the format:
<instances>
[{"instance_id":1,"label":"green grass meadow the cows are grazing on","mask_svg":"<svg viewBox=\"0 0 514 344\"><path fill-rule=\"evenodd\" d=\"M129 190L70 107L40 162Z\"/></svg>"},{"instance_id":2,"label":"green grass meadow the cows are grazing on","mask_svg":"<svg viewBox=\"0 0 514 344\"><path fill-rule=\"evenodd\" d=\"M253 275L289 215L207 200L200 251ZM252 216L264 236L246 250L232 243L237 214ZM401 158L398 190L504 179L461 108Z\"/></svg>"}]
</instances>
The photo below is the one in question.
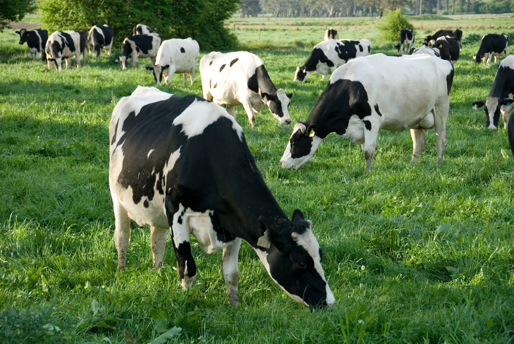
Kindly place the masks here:
<instances>
[{"instance_id":1,"label":"green grass meadow the cows are grazing on","mask_svg":"<svg viewBox=\"0 0 514 344\"><path fill-rule=\"evenodd\" d=\"M48 70L6 29L0 34L0 342L158 343L175 326L181 332L171 343L512 342L513 157L503 126L488 130L484 112L471 109L488 94L498 64L472 64L479 42L465 38L503 32L504 22L507 32L514 22L492 17L489 29L480 17L445 18L423 19L428 28L416 32L419 46L446 22L468 25L455 64L443 164L435 164L432 129L417 164L410 163L409 131L381 131L370 171L361 148L335 134L301 169L282 169L292 126L281 126L264 108L251 128L243 107L236 108L285 213L301 208L314 222L337 299L333 308L314 312L282 292L246 243L237 309L228 302L222 253L203 253L195 239L198 272L187 292L170 241L163 266L153 271L149 228L135 223L127 268L117 271L108 122L121 97L137 85L155 86L144 71L150 62L122 71L113 55L88 55L80 69ZM259 55L277 87L293 93L293 121L306 119L326 86L317 73L293 82L296 66L323 39L325 26L343 19L295 26L291 18L275 30L234 30L241 49ZM396 53L394 44L379 41L375 21L355 18L339 36L370 39L372 53ZM198 69L192 86L175 75L158 88L202 94Z\"/></svg>"}]
</instances>

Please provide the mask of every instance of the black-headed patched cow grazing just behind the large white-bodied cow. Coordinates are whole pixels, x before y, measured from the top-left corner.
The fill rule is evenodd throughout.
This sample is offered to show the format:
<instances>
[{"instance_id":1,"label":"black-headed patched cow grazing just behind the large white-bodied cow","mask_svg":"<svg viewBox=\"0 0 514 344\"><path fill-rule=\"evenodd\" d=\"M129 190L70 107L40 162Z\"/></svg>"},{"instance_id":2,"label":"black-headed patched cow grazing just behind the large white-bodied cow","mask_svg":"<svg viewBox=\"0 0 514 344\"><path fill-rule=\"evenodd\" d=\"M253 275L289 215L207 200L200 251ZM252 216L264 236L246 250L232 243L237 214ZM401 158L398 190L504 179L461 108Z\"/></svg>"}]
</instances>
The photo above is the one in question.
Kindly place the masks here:
<instances>
[{"instance_id":1,"label":"black-headed patched cow grazing just behind the large white-bodied cow","mask_svg":"<svg viewBox=\"0 0 514 344\"><path fill-rule=\"evenodd\" d=\"M305 81L312 71L320 73L321 79L325 80L328 72L334 72L350 59L368 56L370 51L371 42L366 39L320 42L314 46L303 66L296 67L293 81Z\"/></svg>"}]
</instances>

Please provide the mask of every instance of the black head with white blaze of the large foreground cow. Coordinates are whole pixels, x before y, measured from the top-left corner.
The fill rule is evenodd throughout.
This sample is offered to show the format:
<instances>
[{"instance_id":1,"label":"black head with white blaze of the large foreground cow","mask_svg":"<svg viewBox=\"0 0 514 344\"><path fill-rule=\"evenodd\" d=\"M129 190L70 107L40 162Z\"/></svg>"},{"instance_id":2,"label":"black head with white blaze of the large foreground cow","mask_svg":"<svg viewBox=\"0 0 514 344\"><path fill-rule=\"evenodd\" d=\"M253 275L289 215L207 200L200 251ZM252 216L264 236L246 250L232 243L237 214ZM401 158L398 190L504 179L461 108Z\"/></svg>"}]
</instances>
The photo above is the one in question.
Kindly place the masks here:
<instances>
[{"instance_id":1,"label":"black head with white blaze of the large foreground cow","mask_svg":"<svg viewBox=\"0 0 514 344\"><path fill-rule=\"evenodd\" d=\"M321 267L321 246L313 235L313 223L305 220L302 211L296 209L292 223L284 221L280 229L262 216L258 222L264 234L255 252L280 288L311 309L334 304L334 295Z\"/></svg>"}]
</instances>

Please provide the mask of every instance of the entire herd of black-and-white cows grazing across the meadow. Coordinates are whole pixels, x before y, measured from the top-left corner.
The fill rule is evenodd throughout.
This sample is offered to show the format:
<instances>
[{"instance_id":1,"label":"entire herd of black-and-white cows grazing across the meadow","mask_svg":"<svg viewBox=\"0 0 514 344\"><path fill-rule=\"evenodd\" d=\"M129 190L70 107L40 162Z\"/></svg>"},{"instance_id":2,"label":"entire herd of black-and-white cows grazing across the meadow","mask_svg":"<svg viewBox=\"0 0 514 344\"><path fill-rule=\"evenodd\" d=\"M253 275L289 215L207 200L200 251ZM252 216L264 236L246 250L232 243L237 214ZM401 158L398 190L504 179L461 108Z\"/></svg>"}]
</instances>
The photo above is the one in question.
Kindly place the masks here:
<instances>
[{"instance_id":1,"label":"entire herd of black-and-white cows grazing across the meadow","mask_svg":"<svg viewBox=\"0 0 514 344\"><path fill-rule=\"evenodd\" d=\"M17 31L27 42L33 59L61 70L75 56L86 61L86 43L99 56L111 53L114 30L96 25L84 31ZM150 58L156 84L169 84L174 73L194 82L199 46L191 38L161 42L160 36L138 24L123 41L116 59L127 62ZM48 38L47 38L48 37ZM414 31L401 30L397 55L371 55L371 42L340 40L336 30L326 31L293 80L304 82L310 72L326 78L326 88L305 122L297 122L280 163L300 168L331 132L361 145L366 168L373 166L378 131L410 130L412 162L423 150L428 129L435 128L437 162L443 160L446 120L454 76L460 56L461 30L439 30L415 48ZM508 55L506 35L482 37L473 61ZM162 265L168 231L183 288L196 276L190 235L210 254L223 250L222 271L229 301L238 304L237 256L242 240L250 244L268 274L288 295L309 307L331 305L334 295L321 267L322 250L312 233L313 223L296 209L289 219L274 199L235 120L235 106L243 105L250 124L265 105L281 124L291 119L292 94L277 88L255 54L211 52L199 62L203 98L179 97L155 87L138 86L120 99L109 124L109 186L114 203L114 240L118 267L126 266L131 219L151 227L154 269ZM514 154L514 56L507 56L495 75L489 96L474 102L484 106L486 124L497 129L500 113ZM409 97L406 97L406 94ZM416 101L413 102L412 99ZM225 109L219 105L224 105Z\"/></svg>"}]
</instances>

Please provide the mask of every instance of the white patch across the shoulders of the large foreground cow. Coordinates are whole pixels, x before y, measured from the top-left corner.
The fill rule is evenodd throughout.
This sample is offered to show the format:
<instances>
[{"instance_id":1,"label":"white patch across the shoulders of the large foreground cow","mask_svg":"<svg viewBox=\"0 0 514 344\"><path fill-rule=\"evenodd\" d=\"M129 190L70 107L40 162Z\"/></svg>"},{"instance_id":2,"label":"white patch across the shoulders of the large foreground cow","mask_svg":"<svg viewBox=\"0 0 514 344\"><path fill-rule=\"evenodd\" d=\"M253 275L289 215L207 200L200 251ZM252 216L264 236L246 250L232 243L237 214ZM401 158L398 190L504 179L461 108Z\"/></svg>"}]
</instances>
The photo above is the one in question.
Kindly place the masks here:
<instances>
[{"instance_id":1,"label":"white patch across the shoulders of the large foreground cow","mask_svg":"<svg viewBox=\"0 0 514 344\"><path fill-rule=\"evenodd\" d=\"M232 129L237 132L237 136L243 141L243 128L237 124L234 117L230 116L219 105L198 101L197 99L173 120L173 125L182 125L180 132L185 133L189 139L201 135L205 128L216 122L220 117L226 117L232 121Z\"/></svg>"}]
</instances>

